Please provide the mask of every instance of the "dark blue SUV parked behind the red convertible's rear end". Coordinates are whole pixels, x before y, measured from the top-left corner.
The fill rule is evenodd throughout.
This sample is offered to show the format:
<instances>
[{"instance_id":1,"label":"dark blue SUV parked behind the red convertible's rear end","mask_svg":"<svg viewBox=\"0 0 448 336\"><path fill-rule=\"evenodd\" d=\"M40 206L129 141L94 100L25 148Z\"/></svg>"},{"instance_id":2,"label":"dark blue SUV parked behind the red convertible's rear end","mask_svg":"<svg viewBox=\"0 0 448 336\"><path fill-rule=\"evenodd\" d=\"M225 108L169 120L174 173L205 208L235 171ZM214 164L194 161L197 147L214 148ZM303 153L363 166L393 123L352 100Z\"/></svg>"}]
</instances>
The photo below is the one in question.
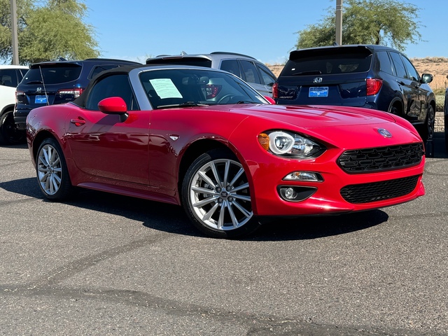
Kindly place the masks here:
<instances>
[{"instance_id":1,"label":"dark blue SUV parked behind the red convertible's rear end","mask_svg":"<svg viewBox=\"0 0 448 336\"><path fill-rule=\"evenodd\" d=\"M36 107L71 102L80 96L98 73L138 62L91 58L82 61L56 61L31 64L15 92L14 122L25 130L29 111Z\"/></svg>"}]
</instances>

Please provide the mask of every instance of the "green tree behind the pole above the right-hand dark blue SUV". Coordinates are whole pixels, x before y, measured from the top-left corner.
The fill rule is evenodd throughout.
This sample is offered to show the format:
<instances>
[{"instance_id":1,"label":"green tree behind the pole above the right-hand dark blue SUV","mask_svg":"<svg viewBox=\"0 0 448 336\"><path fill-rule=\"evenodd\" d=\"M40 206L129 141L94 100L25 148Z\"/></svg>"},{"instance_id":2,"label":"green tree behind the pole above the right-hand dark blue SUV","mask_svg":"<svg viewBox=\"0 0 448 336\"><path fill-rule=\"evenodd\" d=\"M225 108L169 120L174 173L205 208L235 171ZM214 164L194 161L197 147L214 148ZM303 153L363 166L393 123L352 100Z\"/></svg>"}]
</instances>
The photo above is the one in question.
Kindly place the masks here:
<instances>
[{"instance_id":1,"label":"green tree behind the pole above the right-hand dark blue SUV","mask_svg":"<svg viewBox=\"0 0 448 336\"><path fill-rule=\"evenodd\" d=\"M411 3L397 0L344 0L342 14L343 44L390 45L400 51L407 43L421 41L419 10ZM335 8L321 24L297 31L297 49L332 45L335 42Z\"/></svg>"}]
</instances>

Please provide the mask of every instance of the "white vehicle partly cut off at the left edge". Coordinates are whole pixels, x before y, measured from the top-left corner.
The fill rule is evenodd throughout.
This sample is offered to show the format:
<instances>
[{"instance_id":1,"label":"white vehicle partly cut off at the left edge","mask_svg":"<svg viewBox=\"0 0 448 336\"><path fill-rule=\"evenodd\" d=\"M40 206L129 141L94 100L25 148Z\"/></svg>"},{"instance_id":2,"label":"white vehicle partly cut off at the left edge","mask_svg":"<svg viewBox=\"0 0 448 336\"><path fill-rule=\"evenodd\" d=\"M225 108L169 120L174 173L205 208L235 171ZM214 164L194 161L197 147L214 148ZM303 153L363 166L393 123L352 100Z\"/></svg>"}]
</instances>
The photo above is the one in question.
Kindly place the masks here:
<instances>
[{"instance_id":1,"label":"white vehicle partly cut off at the left edge","mask_svg":"<svg viewBox=\"0 0 448 336\"><path fill-rule=\"evenodd\" d=\"M25 141L25 133L17 132L14 125L15 87L20 83L28 66L0 65L0 145Z\"/></svg>"}]
</instances>

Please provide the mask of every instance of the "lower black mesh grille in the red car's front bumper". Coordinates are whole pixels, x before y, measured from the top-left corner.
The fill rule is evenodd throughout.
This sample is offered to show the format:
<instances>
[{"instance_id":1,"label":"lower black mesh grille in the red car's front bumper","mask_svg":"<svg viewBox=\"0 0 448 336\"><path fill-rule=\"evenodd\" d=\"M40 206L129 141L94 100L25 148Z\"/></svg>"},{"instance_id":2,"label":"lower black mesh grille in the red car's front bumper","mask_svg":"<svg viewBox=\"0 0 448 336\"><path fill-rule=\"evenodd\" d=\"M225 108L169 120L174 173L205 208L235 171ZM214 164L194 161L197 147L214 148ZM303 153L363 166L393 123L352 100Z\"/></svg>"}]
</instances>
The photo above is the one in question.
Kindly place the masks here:
<instances>
[{"instance_id":1,"label":"lower black mesh grille in the red car's front bumper","mask_svg":"<svg viewBox=\"0 0 448 336\"><path fill-rule=\"evenodd\" d=\"M415 189L419 176L382 182L352 184L341 189L341 196L349 203L368 203L405 196Z\"/></svg>"}]
</instances>

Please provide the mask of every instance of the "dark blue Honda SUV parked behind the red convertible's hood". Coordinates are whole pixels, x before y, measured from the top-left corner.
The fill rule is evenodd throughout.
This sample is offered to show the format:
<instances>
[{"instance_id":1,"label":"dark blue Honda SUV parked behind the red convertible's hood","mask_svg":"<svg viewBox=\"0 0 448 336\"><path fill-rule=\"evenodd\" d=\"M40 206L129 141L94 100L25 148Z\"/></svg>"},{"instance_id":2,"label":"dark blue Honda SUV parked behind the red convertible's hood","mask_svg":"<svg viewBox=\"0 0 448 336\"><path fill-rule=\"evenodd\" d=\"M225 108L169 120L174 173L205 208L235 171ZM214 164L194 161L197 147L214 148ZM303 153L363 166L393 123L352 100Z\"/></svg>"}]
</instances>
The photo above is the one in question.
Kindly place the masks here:
<instances>
[{"instance_id":1,"label":"dark blue Honda SUV parked behind the red convertible's hood","mask_svg":"<svg viewBox=\"0 0 448 336\"><path fill-rule=\"evenodd\" d=\"M290 52L273 88L276 104L342 105L401 116L432 139L435 96L401 52L381 45L333 45Z\"/></svg>"}]
</instances>

